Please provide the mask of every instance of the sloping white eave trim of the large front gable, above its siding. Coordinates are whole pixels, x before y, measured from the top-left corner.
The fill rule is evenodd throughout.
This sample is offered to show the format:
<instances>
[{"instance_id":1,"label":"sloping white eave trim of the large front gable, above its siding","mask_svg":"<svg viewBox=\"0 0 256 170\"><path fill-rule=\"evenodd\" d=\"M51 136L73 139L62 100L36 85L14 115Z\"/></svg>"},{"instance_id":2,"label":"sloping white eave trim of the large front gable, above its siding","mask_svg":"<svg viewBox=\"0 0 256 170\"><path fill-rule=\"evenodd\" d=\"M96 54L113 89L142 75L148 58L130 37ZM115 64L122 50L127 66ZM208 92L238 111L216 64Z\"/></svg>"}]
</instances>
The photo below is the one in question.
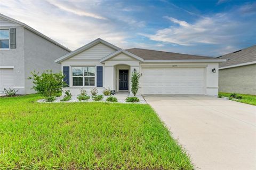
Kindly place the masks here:
<instances>
[{"instance_id":1,"label":"sloping white eave trim of the large front gable, above its siding","mask_svg":"<svg viewBox=\"0 0 256 170\"><path fill-rule=\"evenodd\" d=\"M71 58L72 56L74 56L76 54L79 54L79 53L89 49L90 47L99 44L99 43L102 43L102 44L104 44L104 45L106 45L110 48L114 48L115 50L120 50L121 49L121 48L119 48L119 47L117 47L113 44L110 44L110 43L104 41L103 39L98 38L98 39L95 39L94 41L92 41L91 43L88 43L88 44L86 44L86 45L84 45L80 48L77 48L77 50L75 50L71 53L68 53L64 56L61 56L60 58L56 59L54 62L60 63L61 61L67 60L67 59Z\"/></svg>"}]
</instances>

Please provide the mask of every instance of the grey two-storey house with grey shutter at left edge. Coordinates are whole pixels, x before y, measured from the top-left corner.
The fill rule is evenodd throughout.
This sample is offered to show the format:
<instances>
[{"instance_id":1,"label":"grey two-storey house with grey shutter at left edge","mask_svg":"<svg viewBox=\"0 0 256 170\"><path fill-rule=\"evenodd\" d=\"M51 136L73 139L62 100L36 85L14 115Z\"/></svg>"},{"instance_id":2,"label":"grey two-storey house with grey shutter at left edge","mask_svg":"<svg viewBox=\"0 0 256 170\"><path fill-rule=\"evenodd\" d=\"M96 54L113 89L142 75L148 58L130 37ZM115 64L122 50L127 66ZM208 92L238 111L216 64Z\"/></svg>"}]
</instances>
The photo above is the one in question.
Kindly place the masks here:
<instances>
[{"instance_id":1,"label":"grey two-storey house with grey shutter at left edge","mask_svg":"<svg viewBox=\"0 0 256 170\"><path fill-rule=\"evenodd\" d=\"M34 93L34 70L61 71L54 60L70 50L22 22L0 14L0 93L4 88L19 90L19 94Z\"/></svg>"}]
</instances>

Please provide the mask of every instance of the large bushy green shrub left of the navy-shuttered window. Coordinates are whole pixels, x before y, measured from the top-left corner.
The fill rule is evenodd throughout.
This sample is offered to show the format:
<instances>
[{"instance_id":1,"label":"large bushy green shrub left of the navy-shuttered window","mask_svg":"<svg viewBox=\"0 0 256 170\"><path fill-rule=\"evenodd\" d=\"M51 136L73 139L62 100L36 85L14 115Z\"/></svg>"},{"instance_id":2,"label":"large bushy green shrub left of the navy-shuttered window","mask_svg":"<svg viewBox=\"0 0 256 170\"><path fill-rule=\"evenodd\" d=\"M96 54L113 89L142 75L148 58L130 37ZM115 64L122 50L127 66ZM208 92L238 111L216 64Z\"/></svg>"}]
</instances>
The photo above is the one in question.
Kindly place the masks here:
<instances>
[{"instance_id":1,"label":"large bushy green shrub left of the navy-shuttered window","mask_svg":"<svg viewBox=\"0 0 256 170\"><path fill-rule=\"evenodd\" d=\"M63 82L65 75L62 72L53 73L52 70L46 70L41 75L36 71L31 74L32 76L28 79L33 79L34 86L32 88L45 97L58 95L61 93L62 87L67 85Z\"/></svg>"}]
</instances>

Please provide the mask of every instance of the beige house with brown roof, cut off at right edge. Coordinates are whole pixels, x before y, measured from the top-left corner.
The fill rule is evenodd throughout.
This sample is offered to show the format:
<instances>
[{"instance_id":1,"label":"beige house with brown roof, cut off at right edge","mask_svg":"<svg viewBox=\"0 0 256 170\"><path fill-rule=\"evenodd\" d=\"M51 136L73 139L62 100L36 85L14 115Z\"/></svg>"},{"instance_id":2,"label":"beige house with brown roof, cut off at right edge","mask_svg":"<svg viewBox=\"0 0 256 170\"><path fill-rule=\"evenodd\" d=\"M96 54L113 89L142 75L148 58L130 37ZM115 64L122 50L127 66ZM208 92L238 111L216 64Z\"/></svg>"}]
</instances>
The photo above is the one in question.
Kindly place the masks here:
<instances>
[{"instance_id":1,"label":"beige house with brown roof, cut off at right edge","mask_svg":"<svg viewBox=\"0 0 256 170\"><path fill-rule=\"evenodd\" d=\"M256 95L256 45L219 59L227 62L219 65L219 91Z\"/></svg>"}]
</instances>

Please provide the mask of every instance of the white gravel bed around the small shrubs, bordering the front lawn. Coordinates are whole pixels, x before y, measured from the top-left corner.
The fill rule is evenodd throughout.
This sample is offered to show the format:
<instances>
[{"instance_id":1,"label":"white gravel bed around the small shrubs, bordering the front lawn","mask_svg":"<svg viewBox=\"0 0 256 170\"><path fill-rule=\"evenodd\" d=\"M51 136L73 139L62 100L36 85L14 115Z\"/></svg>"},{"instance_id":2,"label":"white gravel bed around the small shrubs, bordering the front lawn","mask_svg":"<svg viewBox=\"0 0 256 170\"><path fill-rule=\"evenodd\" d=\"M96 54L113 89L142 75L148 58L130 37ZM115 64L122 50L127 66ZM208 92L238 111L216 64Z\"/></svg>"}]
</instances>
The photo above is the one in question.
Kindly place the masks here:
<instances>
[{"instance_id":1,"label":"white gravel bed around the small shrubs, bordering the front lawn","mask_svg":"<svg viewBox=\"0 0 256 170\"><path fill-rule=\"evenodd\" d=\"M46 102L45 99L39 99L37 100L38 103L74 103L74 102L107 102L107 103L126 103L126 104L131 104L131 103L137 103L137 104L147 104L147 102L145 101L145 99L142 97L142 96L137 96L137 98L139 98L139 102L126 102L125 99L118 99L118 96L114 95L114 97L117 98L117 102L109 102L109 101L106 101L106 99L109 97L109 96L104 96L103 95L103 99L101 101L94 101L92 100L92 95L89 95L90 96L90 99L89 100L82 100L82 101L79 101L77 99L77 95L73 95L71 97L71 100L69 101L60 101L61 99L64 98L64 95L60 96L60 97L57 97L55 101L53 102Z\"/></svg>"}]
</instances>

